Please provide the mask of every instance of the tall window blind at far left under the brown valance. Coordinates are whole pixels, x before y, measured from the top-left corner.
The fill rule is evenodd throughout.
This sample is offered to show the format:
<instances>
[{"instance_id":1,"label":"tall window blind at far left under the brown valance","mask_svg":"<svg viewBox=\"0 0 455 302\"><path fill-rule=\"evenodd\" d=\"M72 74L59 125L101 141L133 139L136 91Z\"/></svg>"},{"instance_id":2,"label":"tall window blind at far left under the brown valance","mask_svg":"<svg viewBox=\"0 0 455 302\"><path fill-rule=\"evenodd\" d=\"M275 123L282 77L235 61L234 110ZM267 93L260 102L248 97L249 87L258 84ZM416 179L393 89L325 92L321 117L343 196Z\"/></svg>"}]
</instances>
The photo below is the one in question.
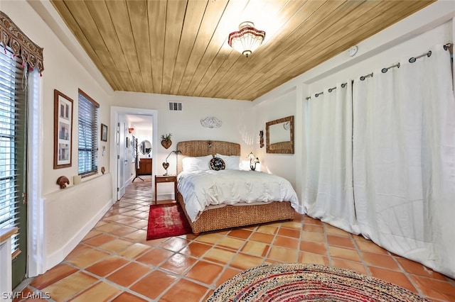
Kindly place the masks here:
<instances>
[{"instance_id":1,"label":"tall window blind at far left under the brown valance","mask_svg":"<svg viewBox=\"0 0 455 302\"><path fill-rule=\"evenodd\" d=\"M26 184L26 92L23 85L26 79L21 58L13 57L12 52L0 51L0 228L18 226L21 219L18 210ZM12 237L13 256L20 252L21 233L26 234L26 230L19 228Z\"/></svg>"}]
</instances>

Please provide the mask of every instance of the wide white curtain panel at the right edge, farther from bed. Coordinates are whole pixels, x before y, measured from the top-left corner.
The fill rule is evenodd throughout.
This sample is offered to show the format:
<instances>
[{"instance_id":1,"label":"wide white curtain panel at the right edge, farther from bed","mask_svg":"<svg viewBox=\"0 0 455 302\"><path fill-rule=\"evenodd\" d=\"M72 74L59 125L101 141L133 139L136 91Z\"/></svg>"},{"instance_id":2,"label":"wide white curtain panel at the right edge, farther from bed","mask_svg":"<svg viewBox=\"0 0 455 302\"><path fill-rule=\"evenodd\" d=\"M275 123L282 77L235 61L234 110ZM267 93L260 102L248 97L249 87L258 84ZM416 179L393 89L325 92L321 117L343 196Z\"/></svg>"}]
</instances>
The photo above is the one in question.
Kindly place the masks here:
<instances>
[{"instance_id":1,"label":"wide white curtain panel at the right edge, farther from bed","mask_svg":"<svg viewBox=\"0 0 455 302\"><path fill-rule=\"evenodd\" d=\"M455 101L442 45L354 82L353 170L360 232L455 277Z\"/></svg>"}]
</instances>

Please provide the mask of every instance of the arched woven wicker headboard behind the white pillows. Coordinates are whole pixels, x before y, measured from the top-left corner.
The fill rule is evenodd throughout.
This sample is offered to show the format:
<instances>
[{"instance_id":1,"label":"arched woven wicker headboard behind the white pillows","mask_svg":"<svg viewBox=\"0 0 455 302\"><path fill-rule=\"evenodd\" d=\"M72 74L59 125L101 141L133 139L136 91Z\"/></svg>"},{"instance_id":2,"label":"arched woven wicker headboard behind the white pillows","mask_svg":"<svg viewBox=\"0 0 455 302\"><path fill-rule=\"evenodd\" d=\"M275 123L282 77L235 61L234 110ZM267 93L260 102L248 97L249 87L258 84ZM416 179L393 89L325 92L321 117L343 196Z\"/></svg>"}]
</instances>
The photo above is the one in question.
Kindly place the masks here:
<instances>
[{"instance_id":1,"label":"arched woven wicker headboard behind the white pillows","mask_svg":"<svg viewBox=\"0 0 455 302\"><path fill-rule=\"evenodd\" d=\"M240 156L240 144L235 142L223 142L221 140L188 140L178 142L177 150L182 152L178 155L177 173L182 172L182 160L185 157L199 157L205 155L238 155Z\"/></svg>"}]
</instances>

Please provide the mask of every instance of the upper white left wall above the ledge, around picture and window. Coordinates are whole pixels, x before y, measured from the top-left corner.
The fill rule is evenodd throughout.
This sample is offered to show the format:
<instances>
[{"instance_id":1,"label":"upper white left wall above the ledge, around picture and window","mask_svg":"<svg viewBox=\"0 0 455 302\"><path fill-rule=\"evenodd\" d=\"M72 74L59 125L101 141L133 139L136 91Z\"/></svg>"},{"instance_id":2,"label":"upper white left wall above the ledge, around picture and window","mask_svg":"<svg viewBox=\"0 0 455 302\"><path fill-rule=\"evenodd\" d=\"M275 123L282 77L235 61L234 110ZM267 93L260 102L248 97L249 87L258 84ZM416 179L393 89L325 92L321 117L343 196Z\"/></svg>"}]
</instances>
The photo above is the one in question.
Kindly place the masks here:
<instances>
[{"instance_id":1,"label":"upper white left wall above the ledge, around picture and window","mask_svg":"<svg viewBox=\"0 0 455 302\"><path fill-rule=\"evenodd\" d=\"M109 125L109 100L112 89L106 90L98 84L98 80L87 71L74 55L60 42L43 19L33 11L26 1L1 1L1 11L4 11L16 25L23 30L28 38L43 47L44 71L42 82L43 106L43 194L60 190L55 181L65 175L72 181L77 175L77 89L82 89L92 99L100 104L100 124ZM54 89L73 99L73 146L72 167L53 169L53 94ZM109 140L109 138L108 138ZM100 141L100 147L102 142ZM100 148L101 149L101 148ZM33 146L31 146L33 152ZM105 166L109 172L109 150L102 157L101 150L98 156L99 166Z\"/></svg>"}]
</instances>

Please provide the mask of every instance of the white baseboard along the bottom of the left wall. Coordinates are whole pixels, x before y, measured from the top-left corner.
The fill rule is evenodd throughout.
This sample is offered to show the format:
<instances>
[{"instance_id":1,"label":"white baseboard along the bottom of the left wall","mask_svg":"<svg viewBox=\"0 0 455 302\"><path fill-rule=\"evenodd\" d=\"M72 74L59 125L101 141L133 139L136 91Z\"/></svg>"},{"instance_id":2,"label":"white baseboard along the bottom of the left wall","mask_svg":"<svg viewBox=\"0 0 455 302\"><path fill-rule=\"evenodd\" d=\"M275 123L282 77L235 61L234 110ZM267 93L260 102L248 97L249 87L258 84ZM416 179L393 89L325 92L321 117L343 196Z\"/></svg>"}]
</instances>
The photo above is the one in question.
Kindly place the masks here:
<instances>
[{"instance_id":1,"label":"white baseboard along the bottom of the left wall","mask_svg":"<svg viewBox=\"0 0 455 302\"><path fill-rule=\"evenodd\" d=\"M105 216L105 213L109 211L113 204L112 198L106 205L95 215L92 220L90 220L84 228L82 228L79 233L77 233L73 238L68 240L68 243L61 247L60 250L53 252L52 255L49 255L45 260L45 271L55 267L55 265L59 264L60 262L65 259L66 256L70 254L71 251L82 241L82 239L92 230L93 227L100 221L100 219Z\"/></svg>"}]
</instances>

